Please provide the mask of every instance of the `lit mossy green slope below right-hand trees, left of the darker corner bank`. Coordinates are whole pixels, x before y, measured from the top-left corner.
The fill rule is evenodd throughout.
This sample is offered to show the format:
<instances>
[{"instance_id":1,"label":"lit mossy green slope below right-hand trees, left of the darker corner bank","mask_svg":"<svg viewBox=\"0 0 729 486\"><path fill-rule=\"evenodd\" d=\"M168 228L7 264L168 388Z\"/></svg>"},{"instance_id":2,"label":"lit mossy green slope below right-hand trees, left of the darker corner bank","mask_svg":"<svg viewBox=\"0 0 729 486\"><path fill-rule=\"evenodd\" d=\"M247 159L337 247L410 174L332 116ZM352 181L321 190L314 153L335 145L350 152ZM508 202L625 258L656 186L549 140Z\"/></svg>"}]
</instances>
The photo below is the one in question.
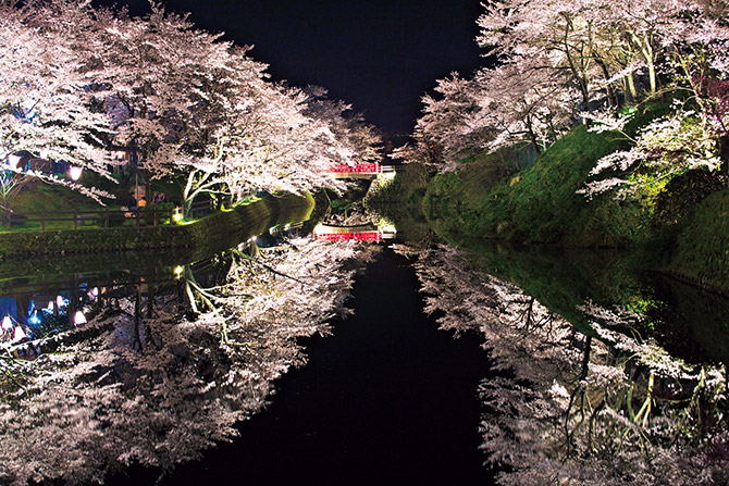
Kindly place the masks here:
<instances>
[{"instance_id":1,"label":"lit mossy green slope below right-hand trees, left of the darker corner bank","mask_svg":"<svg viewBox=\"0 0 729 486\"><path fill-rule=\"evenodd\" d=\"M628 132L665 110L664 104L648 107ZM497 183L484 176L487 155L459 172L436 176L423 211L440 234L577 247L632 246L646 238L650 207L609 195L589 201L577 194L598 159L626 147L625 137L580 125L516 176Z\"/></svg>"}]
</instances>

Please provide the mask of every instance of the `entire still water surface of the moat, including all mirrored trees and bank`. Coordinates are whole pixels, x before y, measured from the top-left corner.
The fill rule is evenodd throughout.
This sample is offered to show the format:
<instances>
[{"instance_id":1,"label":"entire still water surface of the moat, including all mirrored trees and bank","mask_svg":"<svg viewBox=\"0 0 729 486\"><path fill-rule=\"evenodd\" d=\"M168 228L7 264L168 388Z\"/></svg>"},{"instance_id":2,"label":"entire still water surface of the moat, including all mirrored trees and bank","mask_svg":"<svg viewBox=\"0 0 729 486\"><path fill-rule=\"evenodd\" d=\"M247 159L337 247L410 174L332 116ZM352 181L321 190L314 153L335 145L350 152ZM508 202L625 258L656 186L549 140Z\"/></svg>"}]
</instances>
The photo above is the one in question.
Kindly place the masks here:
<instances>
[{"instance_id":1,"label":"entire still water surface of the moat, including all mirrored trees and bank","mask_svg":"<svg viewBox=\"0 0 729 486\"><path fill-rule=\"evenodd\" d=\"M310 226L196 264L3 281L26 319L67 301L42 304L65 331L18 372L26 390L3 382L0 477L725 479L727 299L632 256L314 241ZM689 449L701 461L674 456Z\"/></svg>"}]
</instances>

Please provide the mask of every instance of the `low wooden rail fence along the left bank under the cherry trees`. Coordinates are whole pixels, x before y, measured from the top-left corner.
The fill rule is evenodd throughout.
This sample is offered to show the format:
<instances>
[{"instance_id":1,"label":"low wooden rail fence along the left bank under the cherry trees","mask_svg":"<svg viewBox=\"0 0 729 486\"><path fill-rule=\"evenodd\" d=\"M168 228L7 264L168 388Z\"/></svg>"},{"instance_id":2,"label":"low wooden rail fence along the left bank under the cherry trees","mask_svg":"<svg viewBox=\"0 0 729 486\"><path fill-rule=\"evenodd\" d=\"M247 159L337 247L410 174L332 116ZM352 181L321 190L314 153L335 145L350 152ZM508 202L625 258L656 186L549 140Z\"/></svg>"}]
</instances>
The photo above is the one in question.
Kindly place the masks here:
<instances>
[{"instance_id":1,"label":"low wooden rail fence along the left bank under the cherry trees","mask_svg":"<svg viewBox=\"0 0 729 486\"><path fill-rule=\"evenodd\" d=\"M73 228L78 229L78 224L86 221L94 221L103 228L109 228L110 221L135 220L136 227L158 226L166 217L172 221L172 209L138 208L135 210L88 210L88 211L39 211L17 213L5 210L2 216L2 223L5 227L12 228L13 224L26 222L40 222L40 230L46 230L46 223L58 221L72 221ZM32 217L32 216L36 217ZM66 216L66 217L63 217ZM103 224L99 224L103 222Z\"/></svg>"}]
</instances>

